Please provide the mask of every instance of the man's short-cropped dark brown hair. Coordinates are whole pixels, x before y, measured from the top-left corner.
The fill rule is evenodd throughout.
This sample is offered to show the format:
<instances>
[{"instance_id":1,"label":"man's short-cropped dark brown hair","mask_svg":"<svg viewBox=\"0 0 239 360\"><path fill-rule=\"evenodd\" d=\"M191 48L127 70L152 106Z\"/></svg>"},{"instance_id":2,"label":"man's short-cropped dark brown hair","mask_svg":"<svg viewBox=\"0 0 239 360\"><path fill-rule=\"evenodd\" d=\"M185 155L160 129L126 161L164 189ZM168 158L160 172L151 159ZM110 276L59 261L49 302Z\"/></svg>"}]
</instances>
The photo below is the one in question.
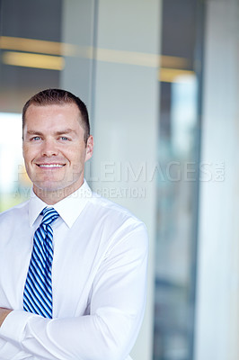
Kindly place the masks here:
<instances>
[{"instance_id":1,"label":"man's short-cropped dark brown hair","mask_svg":"<svg viewBox=\"0 0 239 360\"><path fill-rule=\"evenodd\" d=\"M75 103L79 109L79 121L84 128L84 142L87 143L87 139L90 136L90 122L87 108L83 101L66 90L61 89L47 89L40 91L29 99L22 109L22 131L25 125L26 112L30 105L44 106L44 105L64 105L66 103Z\"/></svg>"}]
</instances>

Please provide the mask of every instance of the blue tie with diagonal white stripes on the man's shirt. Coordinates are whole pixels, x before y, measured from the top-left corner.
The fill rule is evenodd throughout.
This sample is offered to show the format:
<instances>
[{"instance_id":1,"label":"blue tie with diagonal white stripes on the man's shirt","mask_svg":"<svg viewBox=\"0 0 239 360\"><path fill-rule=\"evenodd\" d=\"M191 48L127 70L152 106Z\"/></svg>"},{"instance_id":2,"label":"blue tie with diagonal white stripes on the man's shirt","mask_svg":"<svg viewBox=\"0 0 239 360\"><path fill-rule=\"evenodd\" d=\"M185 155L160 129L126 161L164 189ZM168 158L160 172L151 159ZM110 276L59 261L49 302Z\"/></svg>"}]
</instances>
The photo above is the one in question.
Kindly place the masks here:
<instances>
[{"instance_id":1,"label":"blue tie with diagonal white stripes on the man's shirt","mask_svg":"<svg viewBox=\"0 0 239 360\"><path fill-rule=\"evenodd\" d=\"M51 266L53 229L50 224L59 216L53 208L45 208L40 227L33 238L31 262L23 293L23 309L52 318Z\"/></svg>"}]
</instances>

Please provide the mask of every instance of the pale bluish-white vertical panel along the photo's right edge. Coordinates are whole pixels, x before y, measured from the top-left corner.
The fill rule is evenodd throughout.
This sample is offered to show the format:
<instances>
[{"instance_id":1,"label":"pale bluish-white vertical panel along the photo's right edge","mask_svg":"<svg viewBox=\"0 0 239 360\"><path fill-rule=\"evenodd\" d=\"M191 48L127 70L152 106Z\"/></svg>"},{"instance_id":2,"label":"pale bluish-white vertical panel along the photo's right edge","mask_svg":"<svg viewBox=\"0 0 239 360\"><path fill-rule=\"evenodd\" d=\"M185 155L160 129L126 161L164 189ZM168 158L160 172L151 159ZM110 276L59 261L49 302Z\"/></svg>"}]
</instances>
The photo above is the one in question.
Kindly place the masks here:
<instances>
[{"instance_id":1,"label":"pale bluish-white vertical panel along the photo's right edge","mask_svg":"<svg viewBox=\"0 0 239 360\"><path fill-rule=\"evenodd\" d=\"M208 0L205 23L195 360L239 358L239 2Z\"/></svg>"}]
</instances>

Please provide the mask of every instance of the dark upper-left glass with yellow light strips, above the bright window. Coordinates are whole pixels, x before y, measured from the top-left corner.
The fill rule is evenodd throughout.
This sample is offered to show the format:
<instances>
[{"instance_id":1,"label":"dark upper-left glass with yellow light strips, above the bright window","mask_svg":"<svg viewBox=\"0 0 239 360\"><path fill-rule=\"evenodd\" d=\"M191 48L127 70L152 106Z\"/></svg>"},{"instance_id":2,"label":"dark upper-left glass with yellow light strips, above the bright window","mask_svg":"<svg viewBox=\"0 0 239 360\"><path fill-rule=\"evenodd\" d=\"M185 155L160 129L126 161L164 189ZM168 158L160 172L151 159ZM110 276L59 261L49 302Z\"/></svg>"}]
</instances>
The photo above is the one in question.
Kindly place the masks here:
<instances>
[{"instance_id":1,"label":"dark upper-left glass with yellow light strips, above the bright window","mask_svg":"<svg viewBox=\"0 0 239 360\"><path fill-rule=\"evenodd\" d=\"M1 111L22 112L22 104L32 94L58 87L62 1L2 0L0 4Z\"/></svg>"}]
</instances>

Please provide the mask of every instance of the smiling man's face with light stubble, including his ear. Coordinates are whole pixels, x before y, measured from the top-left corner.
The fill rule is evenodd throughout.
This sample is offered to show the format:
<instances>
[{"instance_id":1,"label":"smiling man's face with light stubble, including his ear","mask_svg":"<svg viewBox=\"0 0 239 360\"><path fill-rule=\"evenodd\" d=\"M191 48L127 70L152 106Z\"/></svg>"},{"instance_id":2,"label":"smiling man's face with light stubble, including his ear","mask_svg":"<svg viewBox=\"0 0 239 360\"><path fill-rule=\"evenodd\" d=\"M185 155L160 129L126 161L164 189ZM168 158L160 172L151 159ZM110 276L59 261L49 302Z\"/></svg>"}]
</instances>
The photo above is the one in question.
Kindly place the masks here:
<instances>
[{"instance_id":1,"label":"smiling man's face with light stubble, including his ear","mask_svg":"<svg viewBox=\"0 0 239 360\"><path fill-rule=\"evenodd\" d=\"M84 142L84 129L75 103L30 105L23 129L23 157L36 194L66 197L84 182L84 162L92 157L93 137ZM58 199L60 200L60 199Z\"/></svg>"}]
</instances>

